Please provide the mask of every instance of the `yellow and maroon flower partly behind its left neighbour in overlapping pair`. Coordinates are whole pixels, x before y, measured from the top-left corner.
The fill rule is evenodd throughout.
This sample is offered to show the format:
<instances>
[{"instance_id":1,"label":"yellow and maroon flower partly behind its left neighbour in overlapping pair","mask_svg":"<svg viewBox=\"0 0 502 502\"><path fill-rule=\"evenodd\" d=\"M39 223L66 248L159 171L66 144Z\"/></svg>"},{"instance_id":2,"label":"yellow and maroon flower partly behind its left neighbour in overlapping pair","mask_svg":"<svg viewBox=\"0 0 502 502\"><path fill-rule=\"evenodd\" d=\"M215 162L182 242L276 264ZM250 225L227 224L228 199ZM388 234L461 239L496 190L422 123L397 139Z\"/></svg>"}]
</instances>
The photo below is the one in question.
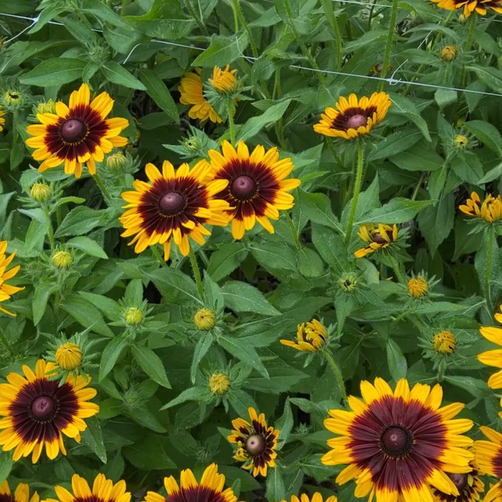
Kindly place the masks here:
<instances>
[{"instance_id":1,"label":"yellow and maroon flower partly behind its left neighbour in overlapping pair","mask_svg":"<svg viewBox=\"0 0 502 502\"><path fill-rule=\"evenodd\" d=\"M296 188L300 180L285 179L293 171L293 162L290 158L279 160L276 147L265 152L258 145L249 155L242 141L238 142L237 150L224 141L221 152L207 152L212 165L210 176L228 182L218 196L232 206L226 214L232 220L233 238L241 239L256 221L274 233L269 218L279 219L279 210L291 209L295 204L293 195L287 192Z\"/></svg>"}]
</instances>

